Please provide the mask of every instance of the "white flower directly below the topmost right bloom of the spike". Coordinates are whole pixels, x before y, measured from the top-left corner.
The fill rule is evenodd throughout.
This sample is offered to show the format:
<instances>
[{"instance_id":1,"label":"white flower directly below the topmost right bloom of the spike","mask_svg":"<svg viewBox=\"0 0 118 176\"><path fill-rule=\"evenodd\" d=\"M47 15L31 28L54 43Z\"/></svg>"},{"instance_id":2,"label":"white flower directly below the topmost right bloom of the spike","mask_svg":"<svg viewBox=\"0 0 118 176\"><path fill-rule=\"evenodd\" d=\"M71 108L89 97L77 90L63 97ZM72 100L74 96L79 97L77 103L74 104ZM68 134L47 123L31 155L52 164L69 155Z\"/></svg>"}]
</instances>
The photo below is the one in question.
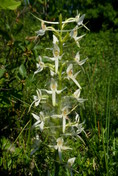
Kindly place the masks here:
<instances>
[{"instance_id":1,"label":"white flower directly below the topmost right bloom of the spike","mask_svg":"<svg viewBox=\"0 0 118 176\"><path fill-rule=\"evenodd\" d=\"M77 44L78 47L80 47L80 44L79 44L79 41L85 36L84 35L81 35L79 37L77 37L77 27L75 27L71 32L70 32L70 36L71 38L73 38Z\"/></svg>"}]
</instances>

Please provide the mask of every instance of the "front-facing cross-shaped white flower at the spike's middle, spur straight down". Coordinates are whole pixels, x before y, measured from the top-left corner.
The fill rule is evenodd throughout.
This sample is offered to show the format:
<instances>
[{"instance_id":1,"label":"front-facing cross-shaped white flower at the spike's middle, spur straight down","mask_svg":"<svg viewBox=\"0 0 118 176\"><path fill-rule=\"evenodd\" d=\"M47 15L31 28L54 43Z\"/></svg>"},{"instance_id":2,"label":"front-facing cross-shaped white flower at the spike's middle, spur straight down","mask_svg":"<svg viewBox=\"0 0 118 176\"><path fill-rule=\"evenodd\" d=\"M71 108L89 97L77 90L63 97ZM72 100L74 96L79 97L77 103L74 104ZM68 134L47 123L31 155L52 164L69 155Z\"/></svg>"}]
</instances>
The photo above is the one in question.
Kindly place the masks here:
<instances>
[{"instance_id":1,"label":"front-facing cross-shaped white flower at the spike's middle, spur straight down","mask_svg":"<svg viewBox=\"0 0 118 176\"><path fill-rule=\"evenodd\" d=\"M57 82L52 78L50 89L51 90L46 90L46 89L43 89L43 90L46 91L48 94L52 94L52 105L55 106L56 105L56 93L60 94L65 88L62 90L57 90Z\"/></svg>"}]
</instances>

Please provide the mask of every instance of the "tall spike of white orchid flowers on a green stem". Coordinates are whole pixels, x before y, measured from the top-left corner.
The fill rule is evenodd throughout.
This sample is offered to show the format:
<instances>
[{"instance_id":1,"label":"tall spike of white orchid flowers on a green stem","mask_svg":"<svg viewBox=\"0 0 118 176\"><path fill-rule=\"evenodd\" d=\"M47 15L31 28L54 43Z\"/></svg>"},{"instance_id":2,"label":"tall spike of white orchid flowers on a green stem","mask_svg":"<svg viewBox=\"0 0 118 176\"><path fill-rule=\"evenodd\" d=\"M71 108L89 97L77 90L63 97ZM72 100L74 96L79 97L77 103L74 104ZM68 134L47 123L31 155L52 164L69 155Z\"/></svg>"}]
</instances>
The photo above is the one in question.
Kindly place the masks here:
<instances>
[{"instance_id":1,"label":"tall spike of white orchid flowers on a green stem","mask_svg":"<svg viewBox=\"0 0 118 176\"><path fill-rule=\"evenodd\" d=\"M79 42L85 34L78 36L78 30L80 27L85 27L88 30L83 24L84 17L85 14L82 16L77 15L74 18L62 21L62 16L60 15L59 22L45 21L36 17L41 22L41 29L36 32L37 39L39 36L43 36L47 31L52 31L53 36L52 47L46 48L46 51L48 49L50 56L44 55L38 57L38 63L36 63L37 70L34 72L34 76L38 76L39 74L44 77L43 72L45 70L49 71L50 74L49 76L44 77L44 87L42 87L43 83L41 83L36 90L37 95L33 96L33 102L31 103L29 110L33 105L37 108L37 111L39 110L39 116L36 115L37 112L32 112L32 116L36 120L32 127L36 130L39 129L39 132L44 133L46 138L49 136L49 143L47 146L58 151L60 162L63 162L62 152L68 149L72 150L72 148L63 145L64 140L68 142L68 137L69 139L71 137L72 139L78 137L78 139L84 143L84 140L80 135L82 132L85 133L83 127L84 122L80 123L77 107L87 100L80 98L82 86L79 83L81 69L83 69L83 64L87 61L87 58L80 60L79 51L74 54L75 57L72 57L70 53L69 59L67 59L68 55L66 55L66 48L68 47L70 40L71 43L75 43L77 47L80 47ZM68 29L70 26L68 25L69 23L74 23L75 27L73 29ZM56 29L50 26L53 24L55 26L60 26L60 28ZM72 49L70 48L70 52L71 51ZM47 80L50 86L45 82ZM67 82L69 82L69 84ZM71 86L71 84L73 85ZM73 102L75 104L73 104ZM56 142L56 145L54 144L54 141ZM33 153L34 151L35 150L33 150ZM71 175L74 162L75 157L70 158L67 161L67 168L69 168Z\"/></svg>"}]
</instances>

